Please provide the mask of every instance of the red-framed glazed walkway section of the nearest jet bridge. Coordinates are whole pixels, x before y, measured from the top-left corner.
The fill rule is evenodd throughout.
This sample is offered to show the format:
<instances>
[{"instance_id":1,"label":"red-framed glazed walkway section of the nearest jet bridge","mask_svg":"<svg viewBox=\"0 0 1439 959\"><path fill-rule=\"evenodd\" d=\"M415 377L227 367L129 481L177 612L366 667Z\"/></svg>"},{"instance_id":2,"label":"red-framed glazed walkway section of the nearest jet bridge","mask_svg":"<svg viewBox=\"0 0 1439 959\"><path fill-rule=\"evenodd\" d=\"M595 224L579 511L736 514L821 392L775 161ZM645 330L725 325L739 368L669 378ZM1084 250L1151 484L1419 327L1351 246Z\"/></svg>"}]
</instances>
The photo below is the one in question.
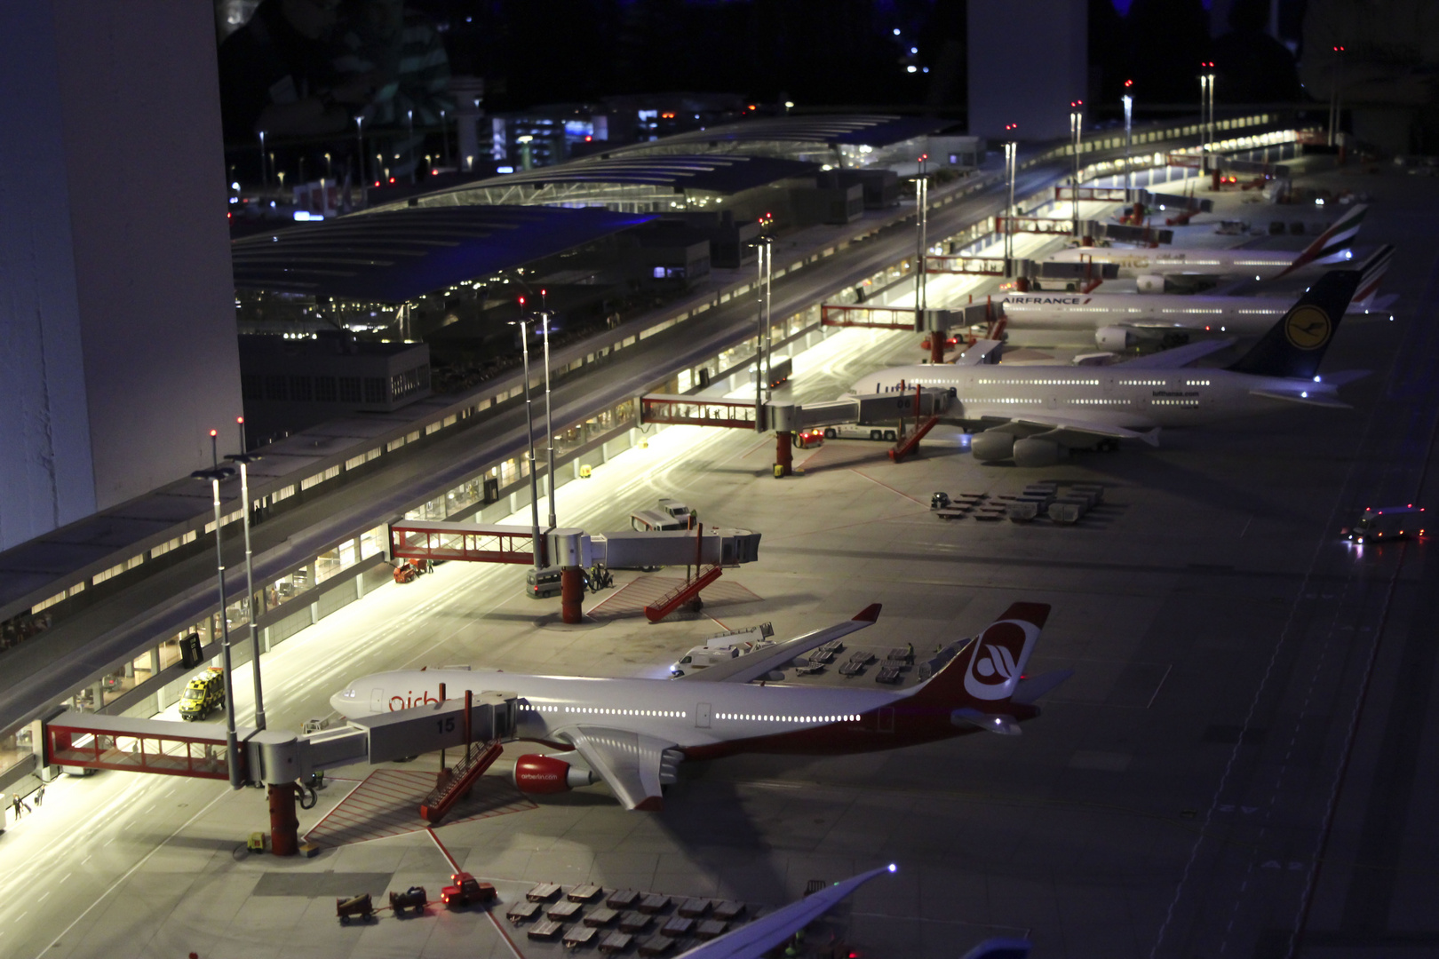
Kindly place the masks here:
<instances>
[{"instance_id":1,"label":"red-framed glazed walkway section of the nearest jet bridge","mask_svg":"<svg viewBox=\"0 0 1439 959\"><path fill-rule=\"evenodd\" d=\"M45 765L229 781L224 726L63 713L45 723ZM240 752L243 762L245 752ZM240 774L245 778L245 774Z\"/></svg>"}]
</instances>

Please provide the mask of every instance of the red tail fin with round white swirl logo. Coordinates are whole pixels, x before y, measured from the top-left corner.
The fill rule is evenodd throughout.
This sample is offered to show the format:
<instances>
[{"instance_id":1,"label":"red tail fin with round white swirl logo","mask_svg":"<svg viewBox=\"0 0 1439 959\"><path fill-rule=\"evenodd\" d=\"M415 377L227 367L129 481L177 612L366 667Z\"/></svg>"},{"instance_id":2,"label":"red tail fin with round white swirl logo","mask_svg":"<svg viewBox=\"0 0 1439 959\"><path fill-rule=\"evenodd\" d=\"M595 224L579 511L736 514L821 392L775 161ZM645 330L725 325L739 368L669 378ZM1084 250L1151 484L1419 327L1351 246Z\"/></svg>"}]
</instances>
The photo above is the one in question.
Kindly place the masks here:
<instances>
[{"instance_id":1,"label":"red tail fin with round white swirl logo","mask_svg":"<svg viewBox=\"0 0 1439 959\"><path fill-rule=\"evenodd\" d=\"M1010 703L1049 618L1048 602L1014 602L984 633L943 650L909 705L948 709L951 722L1017 733Z\"/></svg>"}]
</instances>

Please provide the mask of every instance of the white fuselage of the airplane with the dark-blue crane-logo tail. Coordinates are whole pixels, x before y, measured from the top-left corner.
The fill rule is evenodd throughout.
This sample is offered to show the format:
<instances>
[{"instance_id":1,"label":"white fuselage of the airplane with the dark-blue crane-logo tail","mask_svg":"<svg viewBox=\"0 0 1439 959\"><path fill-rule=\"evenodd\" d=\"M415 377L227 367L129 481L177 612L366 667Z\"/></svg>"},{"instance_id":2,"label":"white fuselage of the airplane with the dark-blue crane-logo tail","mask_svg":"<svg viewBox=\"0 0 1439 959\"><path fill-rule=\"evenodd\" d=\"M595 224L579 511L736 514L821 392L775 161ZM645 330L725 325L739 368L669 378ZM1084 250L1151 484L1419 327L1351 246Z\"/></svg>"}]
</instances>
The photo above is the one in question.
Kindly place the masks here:
<instances>
[{"instance_id":1,"label":"white fuselage of the airplane with the dark-blue crane-logo tail","mask_svg":"<svg viewBox=\"0 0 1439 959\"><path fill-rule=\"evenodd\" d=\"M947 418L1062 417L1128 430L1202 426L1271 413L1282 401L1253 395L1263 390L1333 397L1325 382L1255 377L1229 370L1125 370L1114 367L980 365L892 367L856 381L850 393L902 393L915 387L953 388Z\"/></svg>"}]
</instances>

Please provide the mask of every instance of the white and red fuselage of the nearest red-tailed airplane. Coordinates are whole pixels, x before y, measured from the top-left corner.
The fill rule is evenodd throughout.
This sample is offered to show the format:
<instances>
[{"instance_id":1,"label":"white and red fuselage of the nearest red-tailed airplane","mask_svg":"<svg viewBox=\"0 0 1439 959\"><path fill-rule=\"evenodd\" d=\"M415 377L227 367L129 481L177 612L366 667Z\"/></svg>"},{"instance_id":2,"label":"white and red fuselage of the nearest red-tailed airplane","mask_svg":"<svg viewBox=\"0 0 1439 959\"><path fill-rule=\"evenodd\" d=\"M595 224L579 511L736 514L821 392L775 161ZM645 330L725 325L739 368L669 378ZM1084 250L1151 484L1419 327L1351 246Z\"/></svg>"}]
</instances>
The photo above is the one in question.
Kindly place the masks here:
<instances>
[{"instance_id":1,"label":"white and red fuselage of the nearest red-tailed airplane","mask_svg":"<svg viewBox=\"0 0 1439 959\"><path fill-rule=\"evenodd\" d=\"M826 755L894 749L976 732L953 705L925 706L909 692L650 679L525 676L496 670L376 673L331 697L342 716L374 716L465 690L519 696L518 738L566 748L564 729L619 728L673 742L686 758L738 752ZM1016 719L1036 715L1013 705Z\"/></svg>"}]
</instances>

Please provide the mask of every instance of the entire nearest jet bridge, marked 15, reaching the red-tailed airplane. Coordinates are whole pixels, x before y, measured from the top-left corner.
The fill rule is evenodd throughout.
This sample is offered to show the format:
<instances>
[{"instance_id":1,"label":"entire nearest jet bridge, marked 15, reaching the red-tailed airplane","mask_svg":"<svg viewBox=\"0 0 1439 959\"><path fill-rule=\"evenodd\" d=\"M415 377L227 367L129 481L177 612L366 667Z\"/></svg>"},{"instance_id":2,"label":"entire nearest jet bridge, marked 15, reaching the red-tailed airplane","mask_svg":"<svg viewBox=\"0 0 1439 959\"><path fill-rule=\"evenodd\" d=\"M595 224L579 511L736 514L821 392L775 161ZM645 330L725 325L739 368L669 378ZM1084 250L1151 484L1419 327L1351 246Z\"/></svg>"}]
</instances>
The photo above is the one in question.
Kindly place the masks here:
<instances>
[{"instance_id":1,"label":"entire nearest jet bridge, marked 15, reaching the red-tailed airplane","mask_svg":"<svg viewBox=\"0 0 1439 959\"><path fill-rule=\"evenodd\" d=\"M440 687L443 690L443 686ZM485 692L353 719L315 735L237 728L240 779L269 786L271 848L299 848L296 782L358 762L393 762L437 749L491 746L515 738L518 694ZM371 702L371 709L389 703ZM466 710L468 706L468 710ZM468 715L466 715L468 712ZM229 781L223 723L134 719L60 709L42 720L42 762L68 771L112 769ZM498 751L489 749L491 761ZM469 772L473 774L471 763ZM485 763L488 765L488 763ZM482 769L481 769L482 772Z\"/></svg>"}]
</instances>

